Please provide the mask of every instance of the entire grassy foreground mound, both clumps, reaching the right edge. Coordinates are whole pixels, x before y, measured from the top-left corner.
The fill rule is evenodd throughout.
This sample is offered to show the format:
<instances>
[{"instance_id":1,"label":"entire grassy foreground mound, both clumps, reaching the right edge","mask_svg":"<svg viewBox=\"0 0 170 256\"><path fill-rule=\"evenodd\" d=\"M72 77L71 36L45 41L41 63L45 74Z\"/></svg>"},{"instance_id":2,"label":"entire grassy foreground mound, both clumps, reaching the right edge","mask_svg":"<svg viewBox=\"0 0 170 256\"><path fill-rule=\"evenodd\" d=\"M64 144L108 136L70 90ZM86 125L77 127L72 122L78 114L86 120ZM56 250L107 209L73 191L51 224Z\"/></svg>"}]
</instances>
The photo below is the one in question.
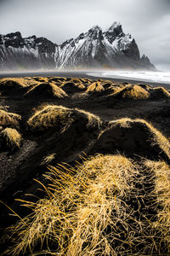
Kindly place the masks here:
<instances>
[{"instance_id":1,"label":"entire grassy foreground mound, both clumps, reaching the right edge","mask_svg":"<svg viewBox=\"0 0 170 256\"><path fill-rule=\"evenodd\" d=\"M32 212L9 229L14 246L6 255L170 253L165 163L99 154L75 168L50 168L45 177L46 197L22 201Z\"/></svg>"}]
</instances>

